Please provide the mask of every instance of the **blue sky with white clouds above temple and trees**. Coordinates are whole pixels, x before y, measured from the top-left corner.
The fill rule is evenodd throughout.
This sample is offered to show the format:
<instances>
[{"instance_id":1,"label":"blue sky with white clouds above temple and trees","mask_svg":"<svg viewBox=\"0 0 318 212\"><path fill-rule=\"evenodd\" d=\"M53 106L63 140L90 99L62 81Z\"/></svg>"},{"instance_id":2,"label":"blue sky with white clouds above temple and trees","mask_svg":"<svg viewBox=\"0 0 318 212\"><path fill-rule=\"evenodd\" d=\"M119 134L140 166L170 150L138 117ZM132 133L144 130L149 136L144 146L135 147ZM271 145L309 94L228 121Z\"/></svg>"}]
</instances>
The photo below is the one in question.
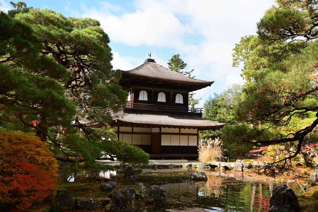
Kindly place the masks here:
<instances>
[{"instance_id":1,"label":"blue sky with white clouds above temple and trees","mask_svg":"<svg viewBox=\"0 0 318 212\"><path fill-rule=\"evenodd\" d=\"M0 3L11 8L10 1ZM17 2L17 1L14 1ZM197 79L215 81L196 92L204 100L233 83L243 83L232 67L232 49L241 37L255 34L256 23L273 0L25 0L27 6L51 8L66 17L100 21L110 38L113 66L131 70L151 58L167 67L174 54L194 69Z\"/></svg>"}]
</instances>

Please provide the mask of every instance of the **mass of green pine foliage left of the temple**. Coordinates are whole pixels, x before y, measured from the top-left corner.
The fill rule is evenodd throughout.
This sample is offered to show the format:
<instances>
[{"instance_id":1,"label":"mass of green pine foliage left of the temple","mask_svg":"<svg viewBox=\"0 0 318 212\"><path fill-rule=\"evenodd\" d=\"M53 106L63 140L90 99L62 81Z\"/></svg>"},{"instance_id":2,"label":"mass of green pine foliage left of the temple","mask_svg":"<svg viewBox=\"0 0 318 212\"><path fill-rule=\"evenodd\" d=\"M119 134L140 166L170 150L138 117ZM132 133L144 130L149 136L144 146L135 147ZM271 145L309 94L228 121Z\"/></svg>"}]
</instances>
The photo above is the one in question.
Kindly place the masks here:
<instances>
[{"instance_id":1,"label":"mass of green pine foliage left of the temple","mask_svg":"<svg viewBox=\"0 0 318 212\"><path fill-rule=\"evenodd\" d=\"M107 126L112 118L103 109L117 110L126 102L100 23L23 2L12 5L17 9L0 13L1 127L35 131L60 160L94 161L102 151L120 153L108 142L112 129L83 123Z\"/></svg>"}]
</instances>

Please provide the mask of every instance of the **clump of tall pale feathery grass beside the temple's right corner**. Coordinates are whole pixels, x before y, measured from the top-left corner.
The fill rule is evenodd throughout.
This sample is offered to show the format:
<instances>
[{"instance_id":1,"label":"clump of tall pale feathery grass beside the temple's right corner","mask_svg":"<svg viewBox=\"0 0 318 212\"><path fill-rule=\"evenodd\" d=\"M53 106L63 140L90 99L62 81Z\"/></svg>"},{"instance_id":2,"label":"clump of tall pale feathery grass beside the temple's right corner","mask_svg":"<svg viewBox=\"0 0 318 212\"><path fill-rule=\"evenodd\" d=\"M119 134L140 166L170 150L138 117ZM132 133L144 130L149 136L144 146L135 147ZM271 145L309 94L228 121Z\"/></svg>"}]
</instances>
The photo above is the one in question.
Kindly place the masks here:
<instances>
[{"instance_id":1,"label":"clump of tall pale feathery grass beside the temple's right corner","mask_svg":"<svg viewBox=\"0 0 318 212\"><path fill-rule=\"evenodd\" d=\"M219 138L214 140L212 139L205 139L205 142L200 142L198 146L199 158L200 162L210 162L210 161L219 161L224 158L222 148L223 141Z\"/></svg>"}]
</instances>

